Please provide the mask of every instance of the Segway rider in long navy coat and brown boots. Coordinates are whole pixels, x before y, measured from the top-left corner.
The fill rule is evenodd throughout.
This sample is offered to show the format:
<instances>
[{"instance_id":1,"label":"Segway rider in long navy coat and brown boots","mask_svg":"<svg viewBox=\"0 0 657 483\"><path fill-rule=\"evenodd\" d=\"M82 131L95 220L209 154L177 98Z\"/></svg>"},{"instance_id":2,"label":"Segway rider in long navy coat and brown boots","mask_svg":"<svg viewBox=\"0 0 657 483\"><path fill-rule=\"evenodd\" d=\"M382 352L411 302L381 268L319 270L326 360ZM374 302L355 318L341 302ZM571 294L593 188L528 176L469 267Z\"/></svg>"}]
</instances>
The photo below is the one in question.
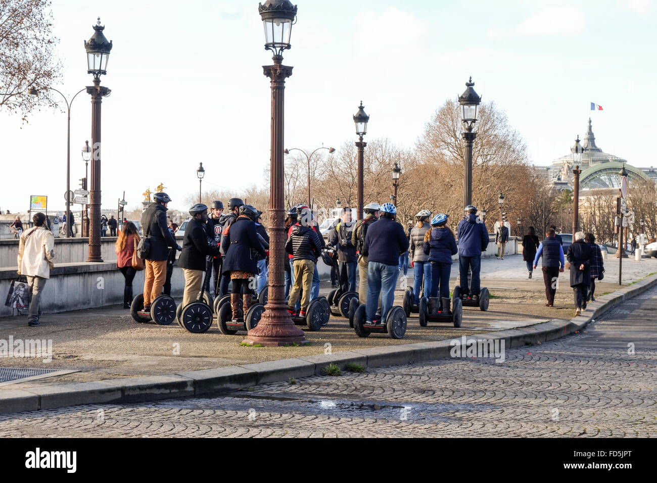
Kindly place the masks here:
<instances>
[{"instance_id":1,"label":"Segway rider in long navy coat and brown boots","mask_svg":"<svg viewBox=\"0 0 657 483\"><path fill-rule=\"evenodd\" d=\"M226 254L223 262L223 273L229 274L233 284L231 290L233 323L238 323L240 317L240 290L243 289L243 313L246 314L251 306L252 288L255 287L250 287L250 283L255 282L255 274L258 273L256 254L263 258L267 256L256 232L255 222L258 219L257 217L258 210L250 204L244 204L240 206L240 216L222 233L221 249Z\"/></svg>"}]
</instances>

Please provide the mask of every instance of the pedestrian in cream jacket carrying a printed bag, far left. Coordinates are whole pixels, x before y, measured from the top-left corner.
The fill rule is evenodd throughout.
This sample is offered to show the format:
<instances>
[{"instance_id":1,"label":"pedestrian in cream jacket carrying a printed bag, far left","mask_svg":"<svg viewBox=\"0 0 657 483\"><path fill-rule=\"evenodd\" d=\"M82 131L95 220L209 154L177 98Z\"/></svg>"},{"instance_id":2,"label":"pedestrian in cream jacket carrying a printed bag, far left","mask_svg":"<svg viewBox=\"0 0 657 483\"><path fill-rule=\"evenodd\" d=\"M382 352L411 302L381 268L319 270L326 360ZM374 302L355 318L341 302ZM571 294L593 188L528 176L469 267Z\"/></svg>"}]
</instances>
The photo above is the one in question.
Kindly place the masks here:
<instances>
[{"instance_id":1,"label":"pedestrian in cream jacket carrying a printed bag, far left","mask_svg":"<svg viewBox=\"0 0 657 483\"><path fill-rule=\"evenodd\" d=\"M55 260L55 237L44 226L43 213L35 213L32 222L34 227L24 231L18 242L18 275L25 275L28 279L28 325L38 327L41 325L41 292L50 278Z\"/></svg>"}]
</instances>

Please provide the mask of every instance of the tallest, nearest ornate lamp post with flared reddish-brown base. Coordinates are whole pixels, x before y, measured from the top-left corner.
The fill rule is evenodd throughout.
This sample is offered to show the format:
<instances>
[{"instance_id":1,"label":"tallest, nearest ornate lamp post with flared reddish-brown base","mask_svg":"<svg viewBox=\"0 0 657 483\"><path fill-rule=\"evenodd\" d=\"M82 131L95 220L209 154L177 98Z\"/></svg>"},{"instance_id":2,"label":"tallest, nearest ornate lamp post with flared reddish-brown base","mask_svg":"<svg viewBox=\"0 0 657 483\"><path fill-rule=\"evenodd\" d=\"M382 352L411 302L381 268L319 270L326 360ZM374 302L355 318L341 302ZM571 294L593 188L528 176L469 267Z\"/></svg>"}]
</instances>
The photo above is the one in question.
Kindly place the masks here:
<instances>
[{"instance_id":1,"label":"tallest, nearest ornate lamp post with flared reddish-brown base","mask_svg":"<svg viewBox=\"0 0 657 483\"><path fill-rule=\"evenodd\" d=\"M267 0L258 5L265 27L265 49L273 52L273 65L263 66L265 76L271 79L271 238L269 239L269 298L256 327L248 331L244 342L263 346L283 346L292 342L306 342L304 332L290 318L285 303L284 263L287 239L283 220L283 106L285 79L292 75L292 67L283 65L283 51L290 48L292 22L296 18L296 5L289 0Z\"/></svg>"}]
</instances>

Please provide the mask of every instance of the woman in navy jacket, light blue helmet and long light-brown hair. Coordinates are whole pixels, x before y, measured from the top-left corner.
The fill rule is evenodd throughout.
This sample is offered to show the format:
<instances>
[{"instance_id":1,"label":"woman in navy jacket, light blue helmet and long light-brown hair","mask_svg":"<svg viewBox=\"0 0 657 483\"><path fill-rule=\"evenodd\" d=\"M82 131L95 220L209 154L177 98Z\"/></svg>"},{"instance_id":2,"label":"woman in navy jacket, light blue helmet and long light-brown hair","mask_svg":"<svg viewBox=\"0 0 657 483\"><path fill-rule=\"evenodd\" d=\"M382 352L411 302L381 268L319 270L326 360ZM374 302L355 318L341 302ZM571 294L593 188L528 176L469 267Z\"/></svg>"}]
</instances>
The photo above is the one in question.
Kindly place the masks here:
<instances>
[{"instance_id":1,"label":"woman in navy jacket, light blue helmet and long light-brown hair","mask_svg":"<svg viewBox=\"0 0 657 483\"><path fill-rule=\"evenodd\" d=\"M452 256L459 252L454 233L447 227L447 218L449 215L439 213L431 220L433 227L424 235L424 244L422 251L428 255L431 264L431 296L438 297L440 300L447 298L449 300L449 275L451 272ZM440 290L439 290L440 285ZM443 311L449 313L449 306L443 307Z\"/></svg>"}]
</instances>

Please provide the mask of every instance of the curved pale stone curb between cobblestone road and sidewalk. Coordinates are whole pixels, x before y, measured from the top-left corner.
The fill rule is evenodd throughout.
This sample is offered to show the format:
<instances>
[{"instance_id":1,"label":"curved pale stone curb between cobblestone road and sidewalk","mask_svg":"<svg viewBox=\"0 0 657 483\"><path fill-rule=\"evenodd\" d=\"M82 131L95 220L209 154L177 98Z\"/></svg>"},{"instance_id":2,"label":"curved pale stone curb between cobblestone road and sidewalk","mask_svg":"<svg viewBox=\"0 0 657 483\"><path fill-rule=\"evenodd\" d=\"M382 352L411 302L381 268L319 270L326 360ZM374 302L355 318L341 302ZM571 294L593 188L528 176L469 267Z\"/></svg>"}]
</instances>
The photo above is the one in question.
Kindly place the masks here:
<instances>
[{"instance_id":1,"label":"curved pale stone curb between cobblestone road and sidewalk","mask_svg":"<svg viewBox=\"0 0 657 483\"><path fill-rule=\"evenodd\" d=\"M616 292L601 296L588 305L583 315L574 317L570 321L553 319L527 327L466 336L466 344L484 339L504 340L505 347L518 347L554 340L581 331L602 313L655 285L657 285L657 275L651 275L629 287L623 287ZM462 345L463 340L457 340L459 340L457 346ZM369 368L442 359L450 357L453 347L455 346L451 340L437 340L178 374L53 384L39 388L9 390L0 395L0 414L79 404L145 402L201 396L223 389L279 382L291 377L324 375L324 369L330 363L338 365L344 371L348 363L357 363Z\"/></svg>"}]
</instances>

